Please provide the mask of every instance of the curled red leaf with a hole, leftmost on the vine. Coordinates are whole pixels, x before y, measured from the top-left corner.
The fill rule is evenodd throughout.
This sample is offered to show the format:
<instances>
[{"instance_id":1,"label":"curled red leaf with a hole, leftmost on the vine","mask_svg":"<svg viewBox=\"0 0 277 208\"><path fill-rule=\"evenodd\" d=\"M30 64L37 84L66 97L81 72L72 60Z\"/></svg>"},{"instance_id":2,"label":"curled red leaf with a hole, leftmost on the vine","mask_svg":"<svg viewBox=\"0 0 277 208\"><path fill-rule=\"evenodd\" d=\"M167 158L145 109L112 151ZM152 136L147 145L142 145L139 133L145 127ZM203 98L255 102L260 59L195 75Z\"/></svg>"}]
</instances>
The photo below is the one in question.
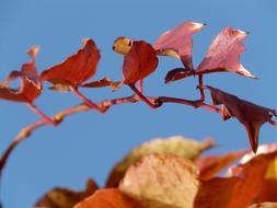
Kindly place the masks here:
<instances>
[{"instance_id":1,"label":"curled red leaf with a hole, leftmost on the vine","mask_svg":"<svg viewBox=\"0 0 277 208\"><path fill-rule=\"evenodd\" d=\"M33 103L33 101L42 93L43 86L36 71L35 57L38 53L38 46L34 46L27 50L31 61L22 66L21 71L12 71L4 82L0 84L0 99ZM9 83L15 79L21 80L19 89L12 89Z\"/></svg>"}]
</instances>

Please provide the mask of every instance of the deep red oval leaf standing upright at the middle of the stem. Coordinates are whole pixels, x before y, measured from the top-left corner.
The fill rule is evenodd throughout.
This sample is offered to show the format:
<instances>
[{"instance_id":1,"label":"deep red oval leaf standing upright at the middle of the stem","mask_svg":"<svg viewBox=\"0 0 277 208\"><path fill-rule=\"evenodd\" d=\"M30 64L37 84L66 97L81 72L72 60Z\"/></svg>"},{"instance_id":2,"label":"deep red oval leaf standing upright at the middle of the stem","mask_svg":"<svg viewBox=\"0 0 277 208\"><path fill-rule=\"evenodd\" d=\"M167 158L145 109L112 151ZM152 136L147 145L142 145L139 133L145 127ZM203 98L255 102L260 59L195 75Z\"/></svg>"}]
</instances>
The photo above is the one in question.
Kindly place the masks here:
<instances>
[{"instance_id":1,"label":"deep red oval leaf standing upright at the middle of the stem","mask_svg":"<svg viewBox=\"0 0 277 208\"><path fill-rule=\"evenodd\" d=\"M152 46L143 41L134 42L124 56L123 73L125 84L135 84L152 73L158 66L158 58Z\"/></svg>"}]
</instances>

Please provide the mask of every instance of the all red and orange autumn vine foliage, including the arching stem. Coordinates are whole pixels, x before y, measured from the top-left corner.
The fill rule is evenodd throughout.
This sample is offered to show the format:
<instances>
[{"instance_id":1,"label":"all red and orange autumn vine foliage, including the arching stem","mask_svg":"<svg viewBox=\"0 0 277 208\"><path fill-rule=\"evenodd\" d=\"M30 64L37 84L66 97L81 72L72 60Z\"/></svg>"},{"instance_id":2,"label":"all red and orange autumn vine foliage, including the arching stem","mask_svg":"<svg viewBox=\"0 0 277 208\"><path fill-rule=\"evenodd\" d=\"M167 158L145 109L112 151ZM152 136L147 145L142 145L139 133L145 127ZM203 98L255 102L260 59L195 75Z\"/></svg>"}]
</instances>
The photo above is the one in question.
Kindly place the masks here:
<instances>
[{"instance_id":1,"label":"all red and orange autumn vine foliage, including the arching stem","mask_svg":"<svg viewBox=\"0 0 277 208\"><path fill-rule=\"evenodd\" d=\"M205 76L215 72L233 72L256 79L240 61L245 50L243 45L247 32L224 27L211 42L199 66L193 63L193 35L205 24L184 22L164 32L155 43L118 37L114 51L123 56L123 79L109 78L89 81L97 71L101 59L96 43L90 38L83 46L42 73L37 71L35 58L38 46L27 50L31 60L21 70L12 71L0 84L0 99L26 104L42 119L21 130L0 160L0 173L14 148L30 134L51 124L58 126L62 119L78 112L95 109L105 113L112 105L145 102L155 109L165 103L201 107L220 114L222 120L236 118L246 129L253 154L249 150L229 152L223 155L201 155L206 149L216 146L212 140L198 142L182 137L157 139L143 143L111 171L106 186L99 188L92 180L84 192L55 188L36 203L35 207L49 208L244 208L277 207L277 145L258 147L258 135L263 124L277 127L275 109L244 101L215 86L205 85ZM164 78L166 84L196 76L198 100L183 97L147 96L143 79L158 70L159 59L171 56L181 61L181 67L170 69ZM19 89L10 82L19 79ZM50 90L71 92L82 103L49 117L35 104L43 93L44 82L50 82ZM132 95L95 103L82 94L80 88L109 86L113 91L127 85ZM206 103L206 91L210 92L211 104ZM220 107L218 107L220 105ZM261 153L262 152L262 153ZM241 159L239 163L234 161ZM250 159L251 158L251 159ZM247 159L247 161L245 161ZM230 166L227 175L222 173ZM220 173L220 176L219 176ZM259 205L261 204L261 205Z\"/></svg>"}]
</instances>

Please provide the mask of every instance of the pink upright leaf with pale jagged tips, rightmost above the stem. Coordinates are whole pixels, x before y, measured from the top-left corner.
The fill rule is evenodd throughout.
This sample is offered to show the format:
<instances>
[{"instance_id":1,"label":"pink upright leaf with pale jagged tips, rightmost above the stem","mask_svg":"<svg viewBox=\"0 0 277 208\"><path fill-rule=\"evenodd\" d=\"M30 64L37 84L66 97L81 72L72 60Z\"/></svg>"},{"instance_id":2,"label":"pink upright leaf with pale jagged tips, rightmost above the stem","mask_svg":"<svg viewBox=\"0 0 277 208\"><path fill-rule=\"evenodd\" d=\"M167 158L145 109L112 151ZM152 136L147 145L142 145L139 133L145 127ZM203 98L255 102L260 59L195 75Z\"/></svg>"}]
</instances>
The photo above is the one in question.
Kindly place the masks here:
<instances>
[{"instance_id":1,"label":"pink upright leaf with pale jagged tips, rightmost above the stem","mask_svg":"<svg viewBox=\"0 0 277 208\"><path fill-rule=\"evenodd\" d=\"M243 41L246 36L246 32L232 27L223 28L210 44L205 58L197 68L197 73L230 71L256 78L240 62L240 55L245 50Z\"/></svg>"}]
</instances>

